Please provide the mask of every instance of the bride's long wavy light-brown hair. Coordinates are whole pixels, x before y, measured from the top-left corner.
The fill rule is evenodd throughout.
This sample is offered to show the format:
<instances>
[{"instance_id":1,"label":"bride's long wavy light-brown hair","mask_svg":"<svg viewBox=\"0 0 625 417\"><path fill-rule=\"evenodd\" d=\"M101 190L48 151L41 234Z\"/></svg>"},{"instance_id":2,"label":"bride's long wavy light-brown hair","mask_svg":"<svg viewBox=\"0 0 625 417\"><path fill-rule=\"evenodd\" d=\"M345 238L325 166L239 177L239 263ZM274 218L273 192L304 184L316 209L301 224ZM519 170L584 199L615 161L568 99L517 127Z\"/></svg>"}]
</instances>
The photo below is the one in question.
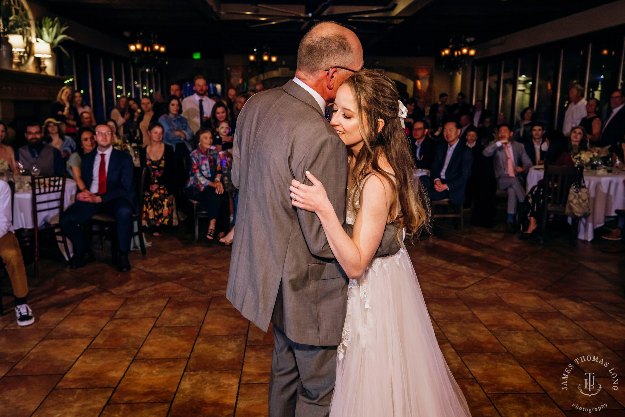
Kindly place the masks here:
<instances>
[{"instance_id":1,"label":"bride's long wavy light-brown hair","mask_svg":"<svg viewBox=\"0 0 625 417\"><path fill-rule=\"evenodd\" d=\"M354 95L359 130L364 146L353 161L351 190L347 194L347 204L356 207L365 177L377 173L386 178L392 187L392 203L390 213L397 213L397 204L401 211L394 220L406 232L418 235L429 225L429 200L419 182L412 180L411 150L406 132L399 120L399 93L395 83L375 70L360 70L344 81ZM384 120L382 130L369 129L377 126L378 119ZM386 160L394 175L380 167Z\"/></svg>"}]
</instances>

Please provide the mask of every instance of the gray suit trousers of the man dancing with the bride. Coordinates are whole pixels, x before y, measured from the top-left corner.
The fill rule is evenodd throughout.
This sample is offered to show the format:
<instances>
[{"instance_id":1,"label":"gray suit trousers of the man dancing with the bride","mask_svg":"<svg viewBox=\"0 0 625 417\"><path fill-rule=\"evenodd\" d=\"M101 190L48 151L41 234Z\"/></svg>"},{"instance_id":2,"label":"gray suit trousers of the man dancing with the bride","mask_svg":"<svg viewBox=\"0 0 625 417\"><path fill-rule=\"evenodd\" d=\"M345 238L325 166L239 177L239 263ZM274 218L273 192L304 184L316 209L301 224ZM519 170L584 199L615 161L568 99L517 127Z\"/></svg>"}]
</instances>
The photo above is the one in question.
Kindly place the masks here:
<instances>
[{"instance_id":1,"label":"gray suit trousers of the man dancing with the bride","mask_svg":"<svg viewBox=\"0 0 625 417\"><path fill-rule=\"evenodd\" d=\"M274 324L269 417L327 417L336 379L336 346L291 341Z\"/></svg>"}]
</instances>

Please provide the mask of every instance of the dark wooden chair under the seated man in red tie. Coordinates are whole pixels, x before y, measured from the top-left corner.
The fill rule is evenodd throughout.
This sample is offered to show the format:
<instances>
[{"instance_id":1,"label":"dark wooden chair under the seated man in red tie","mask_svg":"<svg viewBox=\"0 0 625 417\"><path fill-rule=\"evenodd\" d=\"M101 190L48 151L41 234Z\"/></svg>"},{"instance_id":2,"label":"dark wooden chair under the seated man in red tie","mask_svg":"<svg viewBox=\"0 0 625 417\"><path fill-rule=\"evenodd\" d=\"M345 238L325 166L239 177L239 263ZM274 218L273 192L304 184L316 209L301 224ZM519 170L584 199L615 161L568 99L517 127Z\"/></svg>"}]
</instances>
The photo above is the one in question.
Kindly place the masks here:
<instances>
[{"instance_id":1,"label":"dark wooden chair under the seated man in red tie","mask_svg":"<svg viewBox=\"0 0 625 417\"><path fill-rule=\"evenodd\" d=\"M139 247L141 247L141 255L146 254L146 244L143 240L143 188L146 184L146 177L148 175L148 168L134 167L133 176L133 188L137 194L137 200L139 202L139 212L133 214L133 224L137 223L137 231L133 229L131 239L135 236L139 237ZM98 231L94 231L94 225L98 226ZM113 262L118 262L119 245L117 239L117 220L112 215L106 213L98 213L91 217L88 222L88 237L89 241L93 235L99 235L103 237L109 237L111 239L111 257Z\"/></svg>"}]
</instances>

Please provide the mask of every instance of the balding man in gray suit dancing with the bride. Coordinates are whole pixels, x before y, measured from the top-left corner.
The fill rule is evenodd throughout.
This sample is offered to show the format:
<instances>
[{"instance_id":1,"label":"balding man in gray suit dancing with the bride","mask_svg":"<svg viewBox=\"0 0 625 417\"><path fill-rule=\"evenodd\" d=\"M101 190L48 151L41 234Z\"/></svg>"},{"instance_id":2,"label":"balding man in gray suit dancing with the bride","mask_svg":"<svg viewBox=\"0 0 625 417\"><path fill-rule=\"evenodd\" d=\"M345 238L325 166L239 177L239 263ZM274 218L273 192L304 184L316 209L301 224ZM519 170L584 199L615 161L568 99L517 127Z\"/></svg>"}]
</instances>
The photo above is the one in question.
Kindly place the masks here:
<instances>
[{"instance_id":1,"label":"balding man in gray suit dancing with the bride","mask_svg":"<svg viewBox=\"0 0 625 417\"><path fill-rule=\"evenodd\" d=\"M292 207L289 186L293 178L310 184L306 171L314 173L344 222L347 150L326 105L361 67L356 34L318 24L299 45L296 77L252 96L237 119L239 203L226 296L262 330L273 324L272 417L329 414L348 280L317 215ZM387 226L377 255L399 250L396 230Z\"/></svg>"}]
</instances>

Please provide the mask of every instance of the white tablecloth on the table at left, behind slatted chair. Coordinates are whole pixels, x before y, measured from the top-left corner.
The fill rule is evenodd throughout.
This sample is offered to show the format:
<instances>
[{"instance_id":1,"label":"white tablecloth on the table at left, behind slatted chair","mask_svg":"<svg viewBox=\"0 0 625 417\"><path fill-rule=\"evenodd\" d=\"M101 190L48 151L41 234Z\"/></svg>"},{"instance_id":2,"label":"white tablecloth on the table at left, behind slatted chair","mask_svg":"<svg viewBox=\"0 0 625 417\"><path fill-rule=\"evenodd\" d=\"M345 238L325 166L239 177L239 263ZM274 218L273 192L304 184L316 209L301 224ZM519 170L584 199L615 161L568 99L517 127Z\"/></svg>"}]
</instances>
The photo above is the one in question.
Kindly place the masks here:
<instances>
[{"instance_id":1,"label":"white tablecloth on the table at left, behind slatted chair","mask_svg":"<svg viewBox=\"0 0 625 417\"><path fill-rule=\"evenodd\" d=\"M37 201L51 200L51 198L59 198L59 193L44 194L37 196ZM65 180L65 198L64 208L67 209L71 203L74 202L76 197L76 182L71 179ZM57 202L44 203L39 205L39 209L47 207L57 206ZM38 226L44 225L49 222L55 214L58 214L59 209L46 210L45 212L39 212L37 214ZM16 192L13 199L13 227L15 229L32 229L34 224L32 223L32 191Z\"/></svg>"}]
</instances>

